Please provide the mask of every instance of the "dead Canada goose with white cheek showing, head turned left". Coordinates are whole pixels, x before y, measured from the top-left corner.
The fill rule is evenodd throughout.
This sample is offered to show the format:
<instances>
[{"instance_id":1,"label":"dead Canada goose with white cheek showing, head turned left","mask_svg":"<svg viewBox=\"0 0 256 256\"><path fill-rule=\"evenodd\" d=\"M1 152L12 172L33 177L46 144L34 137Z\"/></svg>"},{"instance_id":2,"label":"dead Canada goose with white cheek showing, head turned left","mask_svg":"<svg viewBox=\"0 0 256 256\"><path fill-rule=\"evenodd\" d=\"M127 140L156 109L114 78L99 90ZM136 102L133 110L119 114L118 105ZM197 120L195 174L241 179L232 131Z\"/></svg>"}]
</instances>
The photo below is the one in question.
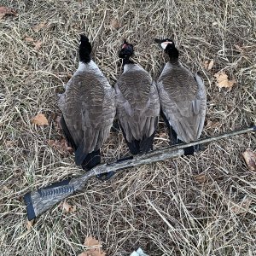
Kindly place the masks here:
<instances>
[{"instance_id":1,"label":"dead Canada goose with white cheek showing, head turned left","mask_svg":"<svg viewBox=\"0 0 256 256\"><path fill-rule=\"evenodd\" d=\"M206 116L205 86L197 74L194 76L178 61L178 50L172 40L156 42L170 58L157 80L161 111L176 139L185 143L195 141L201 136ZM185 154L193 154L194 148L186 149Z\"/></svg>"}]
</instances>

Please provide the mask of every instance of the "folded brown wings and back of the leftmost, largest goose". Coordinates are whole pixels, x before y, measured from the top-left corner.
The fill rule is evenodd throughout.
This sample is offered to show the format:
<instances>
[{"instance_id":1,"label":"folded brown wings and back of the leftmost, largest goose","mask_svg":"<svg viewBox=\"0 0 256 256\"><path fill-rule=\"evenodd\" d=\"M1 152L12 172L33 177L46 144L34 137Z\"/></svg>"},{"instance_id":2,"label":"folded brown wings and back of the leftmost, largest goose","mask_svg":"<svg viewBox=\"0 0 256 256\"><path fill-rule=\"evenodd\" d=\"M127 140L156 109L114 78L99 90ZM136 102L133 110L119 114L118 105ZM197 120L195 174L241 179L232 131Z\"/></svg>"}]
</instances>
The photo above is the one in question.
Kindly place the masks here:
<instances>
[{"instance_id":1,"label":"folded brown wings and back of the leftmost, largest goose","mask_svg":"<svg viewBox=\"0 0 256 256\"><path fill-rule=\"evenodd\" d=\"M108 83L107 79L103 82ZM75 86L69 86L66 91L66 108L63 115L76 145L77 165L82 164L87 154L101 148L113 122L113 89L96 79L92 85L86 84L84 79Z\"/></svg>"}]
</instances>

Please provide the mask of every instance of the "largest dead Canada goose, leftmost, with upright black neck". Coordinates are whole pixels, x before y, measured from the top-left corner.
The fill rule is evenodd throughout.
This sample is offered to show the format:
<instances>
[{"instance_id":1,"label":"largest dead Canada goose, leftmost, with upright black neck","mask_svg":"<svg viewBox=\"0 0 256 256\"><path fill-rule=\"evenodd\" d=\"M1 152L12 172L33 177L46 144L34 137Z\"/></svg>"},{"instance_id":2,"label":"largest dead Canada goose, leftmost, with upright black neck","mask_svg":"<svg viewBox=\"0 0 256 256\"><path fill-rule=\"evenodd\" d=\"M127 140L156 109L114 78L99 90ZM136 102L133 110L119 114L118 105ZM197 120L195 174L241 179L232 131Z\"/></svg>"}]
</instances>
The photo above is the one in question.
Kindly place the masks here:
<instances>
[{"instance_id":1,"label":"largest dead Canada goose, leftmost, with upright black neck","mask_svg":"<svg viewBox=\"0 0 256 256\"><path fill-rule=\"evenodd\" d=\"M91 44L82 35L79 68L58 101L62 129L74 149L76 164L84 170L100 163L100 148L109 135L115 115L113 87L90 59L90 53Z\"/></svg>"}]
</instances>

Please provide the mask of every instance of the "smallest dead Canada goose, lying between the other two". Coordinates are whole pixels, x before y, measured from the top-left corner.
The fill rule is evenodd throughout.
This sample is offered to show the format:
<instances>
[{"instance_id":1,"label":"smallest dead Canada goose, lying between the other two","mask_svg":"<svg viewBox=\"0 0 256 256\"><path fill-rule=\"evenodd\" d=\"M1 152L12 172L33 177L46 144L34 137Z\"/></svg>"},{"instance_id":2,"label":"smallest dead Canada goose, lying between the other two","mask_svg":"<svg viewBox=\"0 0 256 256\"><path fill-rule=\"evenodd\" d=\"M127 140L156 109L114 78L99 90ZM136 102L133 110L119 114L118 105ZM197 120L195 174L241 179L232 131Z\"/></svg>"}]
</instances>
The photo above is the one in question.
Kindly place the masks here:
<instances>
[{"instance_id":1,"label":"smallest dead Canada goose, lying between the other two","mask_svg":"<svg viewBox=\"0 0 256 256\"><path fill-rule=\"evenodd\" d=\"M123 73L114 88L117 117L131 154L147 153L152 148L158 125L160 102L156 84L147 71L130 60L132 44L121 46Z\"/></svg>"}]
</instances>

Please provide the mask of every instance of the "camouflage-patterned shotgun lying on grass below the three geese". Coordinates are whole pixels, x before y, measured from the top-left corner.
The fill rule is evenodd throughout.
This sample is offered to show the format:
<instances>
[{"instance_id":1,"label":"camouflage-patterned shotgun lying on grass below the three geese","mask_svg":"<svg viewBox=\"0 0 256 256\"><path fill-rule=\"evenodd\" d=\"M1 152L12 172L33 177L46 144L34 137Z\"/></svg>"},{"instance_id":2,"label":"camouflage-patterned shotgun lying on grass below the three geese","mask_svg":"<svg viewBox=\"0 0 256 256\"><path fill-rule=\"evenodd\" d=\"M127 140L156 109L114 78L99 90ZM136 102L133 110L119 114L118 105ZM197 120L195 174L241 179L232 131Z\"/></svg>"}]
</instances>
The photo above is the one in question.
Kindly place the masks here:
<instances>
[{"instance_id":1,"label":"camouflage-patterned shotgun lying on grass below the three geese","mask_svg":"<svg viewBox=\"0 0 256 256\"><path fill-rule=\"evenodd\" d=\"M256 126L248 127L239 131L231 131L218 135L216 137L202 138L193 143L180 143L171 147L161 148L153 150L148 154L137 154L131 157L125 158L124 160L118 160L111 164L105 163L95 166L89 172L84 173L79 177L73 177L66 179L60 183L53 183L42 189L28 192L24 195L24 201L26 203L26 212L28 220L36 218L41 213L47 211L50 207L53 207L56 203L63 201L74 192L83 189L84 183L87 182L91 177L96 175L109 173L109 172L120 172L125 168L133 166L141 166L149 163L154 163L162 160L177 158L184 154L183 148L195 146L202 143L210 143L226 137L232 137L240 135L249 131L256 131Z\"/></svg>"}]
</instances>

